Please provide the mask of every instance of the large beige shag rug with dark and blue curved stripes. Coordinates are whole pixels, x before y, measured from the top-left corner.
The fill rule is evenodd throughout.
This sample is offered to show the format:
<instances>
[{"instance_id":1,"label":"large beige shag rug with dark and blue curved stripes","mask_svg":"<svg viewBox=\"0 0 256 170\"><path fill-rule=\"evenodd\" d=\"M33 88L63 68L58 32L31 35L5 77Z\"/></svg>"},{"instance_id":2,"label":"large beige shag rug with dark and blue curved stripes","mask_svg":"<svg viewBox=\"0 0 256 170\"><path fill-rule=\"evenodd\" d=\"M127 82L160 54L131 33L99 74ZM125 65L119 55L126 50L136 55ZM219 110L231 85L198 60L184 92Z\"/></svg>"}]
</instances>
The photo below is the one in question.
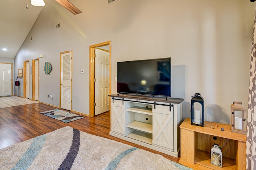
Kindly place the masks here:
<instances>
[{"instance_id":1,"label":"large beige shag rug with dark and blue curved stripes","mask_svg":"<svg viewBox=\"0 0 256 170\"><path fill-rule=\"evenodd\" d=\"M0 149L2 170L191 170L162 155L63 127Z\"/></svg>"}]
</instances>

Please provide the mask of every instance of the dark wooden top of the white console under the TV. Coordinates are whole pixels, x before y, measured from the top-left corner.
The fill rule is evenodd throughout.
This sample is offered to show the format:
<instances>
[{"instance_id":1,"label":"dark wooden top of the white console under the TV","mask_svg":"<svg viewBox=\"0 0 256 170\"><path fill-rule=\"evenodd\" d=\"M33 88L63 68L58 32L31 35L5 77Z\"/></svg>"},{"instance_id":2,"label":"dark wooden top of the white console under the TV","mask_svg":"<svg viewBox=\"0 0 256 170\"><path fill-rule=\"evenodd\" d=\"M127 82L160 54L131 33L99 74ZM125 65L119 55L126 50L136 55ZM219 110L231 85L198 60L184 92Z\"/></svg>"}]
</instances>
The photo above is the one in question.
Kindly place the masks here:
<instances>
[{"instance_id":1,"label":"dark wooden top of the white console under the TV","mask_svg":"<svg viewBox=\"0 0 256 170\"><path fill-rule=\"evenodd\" d=\"M147 95L111 94L108 96L116 97L116 98L134 99L134 100L148 100L152 102L164 102L169 104L180 104L181 102L184 101L184 99L180 99L180 98L167 98L166 100L166 97L147 96Z\"/></svg>"}]
</instances>

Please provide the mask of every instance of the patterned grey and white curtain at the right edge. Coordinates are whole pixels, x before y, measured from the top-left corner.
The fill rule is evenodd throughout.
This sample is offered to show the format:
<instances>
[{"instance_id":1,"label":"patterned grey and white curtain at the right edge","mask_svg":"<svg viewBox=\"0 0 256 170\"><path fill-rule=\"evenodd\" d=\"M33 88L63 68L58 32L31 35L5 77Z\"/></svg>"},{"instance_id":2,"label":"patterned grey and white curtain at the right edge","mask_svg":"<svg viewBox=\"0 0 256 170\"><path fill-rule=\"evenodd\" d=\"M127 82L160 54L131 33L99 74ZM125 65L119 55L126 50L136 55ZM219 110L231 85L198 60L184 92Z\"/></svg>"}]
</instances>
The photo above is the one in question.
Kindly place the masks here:
<instances>
[{"instance_id":1,"label":"patterned grey and white curtain at the right edge","mask_svg":"<svg viewBox=\"0 0 256 170\"><path fill-rule=\"evenodd\" d=\"M255 9L256 10L256 9ZM252 33L252 54L250 67L250 85L246 139L246 170L256 169L256 13ZM254 110L255 109L255 110ZM255 111L255 113L254 113Z\"/></svg>"}]
</instances>

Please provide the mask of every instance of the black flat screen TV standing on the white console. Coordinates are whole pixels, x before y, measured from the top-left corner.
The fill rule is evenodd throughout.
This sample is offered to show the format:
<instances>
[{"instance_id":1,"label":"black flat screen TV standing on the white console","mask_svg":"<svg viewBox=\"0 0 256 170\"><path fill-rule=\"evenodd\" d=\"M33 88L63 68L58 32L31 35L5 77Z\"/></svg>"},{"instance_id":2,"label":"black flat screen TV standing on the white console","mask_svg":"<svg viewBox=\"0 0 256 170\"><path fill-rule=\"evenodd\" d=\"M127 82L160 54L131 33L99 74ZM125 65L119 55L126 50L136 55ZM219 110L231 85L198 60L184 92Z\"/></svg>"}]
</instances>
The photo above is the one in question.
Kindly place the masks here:
<instances>
[{"instance_id":1,"label":"black flat screen TV standing on the white console","mask_svg":"<svg viewBox=\"0 0 256 170\"><path fill-rule=\"evenodd\" d=\"M171 58L117 63L117 92L171 96Z\"/></svg>"}]
</instances>

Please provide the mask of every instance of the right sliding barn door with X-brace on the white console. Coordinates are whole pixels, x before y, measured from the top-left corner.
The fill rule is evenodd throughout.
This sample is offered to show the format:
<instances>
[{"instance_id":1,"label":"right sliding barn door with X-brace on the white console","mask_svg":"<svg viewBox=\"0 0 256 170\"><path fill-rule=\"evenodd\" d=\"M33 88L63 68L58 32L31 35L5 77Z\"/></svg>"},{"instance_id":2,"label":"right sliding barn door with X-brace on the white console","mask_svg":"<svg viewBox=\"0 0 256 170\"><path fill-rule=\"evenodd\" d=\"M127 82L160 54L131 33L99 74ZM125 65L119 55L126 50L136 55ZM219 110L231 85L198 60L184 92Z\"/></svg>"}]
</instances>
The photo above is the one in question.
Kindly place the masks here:
<instances>
[{"instance_id":1,"label":"right sliding barn door with X-brace on the white console","mask_svg":"<svg viewBox=\"0 0 256 170\"><path fill-rule=\"evenodd\" d=\"M174 108L156 105L153 112L153 139L154 146L170 151L174 150Z\"/></svg>"}]
</instances>

